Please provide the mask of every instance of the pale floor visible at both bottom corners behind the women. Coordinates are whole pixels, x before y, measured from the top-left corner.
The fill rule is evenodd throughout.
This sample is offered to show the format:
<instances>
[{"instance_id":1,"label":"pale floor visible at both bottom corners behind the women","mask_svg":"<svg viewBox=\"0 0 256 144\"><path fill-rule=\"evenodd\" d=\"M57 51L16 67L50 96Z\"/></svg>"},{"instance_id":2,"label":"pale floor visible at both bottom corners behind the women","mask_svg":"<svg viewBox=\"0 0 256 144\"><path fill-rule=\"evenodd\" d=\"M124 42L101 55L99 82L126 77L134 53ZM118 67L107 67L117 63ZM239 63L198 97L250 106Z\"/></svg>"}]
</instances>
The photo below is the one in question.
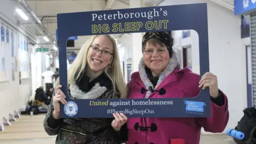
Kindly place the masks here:
<instances>
[{"instance_id":1,"label":"pale floor visible at both bottom corners behind the women","mask_svg":"<svg viewBox=\"0 0 256 144\"><path fill-rule=\"evenodd\" d=\"M53 144L55 136L45 133L43 127L44 115L22 115L12 126L6 126L0 132L0 143L6 144ZM202 135L200 144L235 144L226 134Z\"/></svg>"}]
</instances>

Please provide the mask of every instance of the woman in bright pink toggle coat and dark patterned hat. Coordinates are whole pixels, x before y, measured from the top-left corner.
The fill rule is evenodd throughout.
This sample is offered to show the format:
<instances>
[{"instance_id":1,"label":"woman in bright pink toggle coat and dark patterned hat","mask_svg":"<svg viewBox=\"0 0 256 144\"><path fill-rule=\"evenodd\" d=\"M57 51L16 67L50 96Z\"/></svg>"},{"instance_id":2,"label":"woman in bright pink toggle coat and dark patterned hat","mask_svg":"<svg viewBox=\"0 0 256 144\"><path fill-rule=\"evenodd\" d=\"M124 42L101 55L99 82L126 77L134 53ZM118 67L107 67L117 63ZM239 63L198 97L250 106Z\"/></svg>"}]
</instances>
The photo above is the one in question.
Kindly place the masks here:
<instances>
[{"instance_id":1,"label":"woman in bright pink toggle coat and dark patterned hat","mask_svg":"<svg viewBox=\"0 0 256 144\"><path fill-rule=\"evenodd\" d=\"M207 132L219 133L228 123L228 100L218 89L217 76L206 73L200 79L188 68L180 69L172 44L173 38L168 32L143 36L143 58L139 71L131 75L128 98L195 97L200 89L209 87L211 117L128 118L126 144L199 144L202 127ZM164 94L157 92L161 89L165 90Z\"/></svg>"}]
</instances>

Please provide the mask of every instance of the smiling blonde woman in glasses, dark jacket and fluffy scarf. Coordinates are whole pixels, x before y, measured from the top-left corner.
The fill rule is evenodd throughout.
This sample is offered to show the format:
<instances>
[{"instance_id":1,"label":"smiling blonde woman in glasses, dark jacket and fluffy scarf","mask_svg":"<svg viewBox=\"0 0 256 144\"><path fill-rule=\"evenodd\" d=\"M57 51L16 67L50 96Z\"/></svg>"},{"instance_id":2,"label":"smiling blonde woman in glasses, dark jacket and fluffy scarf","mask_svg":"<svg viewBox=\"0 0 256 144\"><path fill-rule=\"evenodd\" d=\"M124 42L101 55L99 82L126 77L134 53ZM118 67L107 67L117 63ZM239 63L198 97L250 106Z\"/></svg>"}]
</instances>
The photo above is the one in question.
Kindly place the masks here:
<instances>
[{"instance_id":1,"label":"smiling blonde woman in glasses, dark jacket and fluffy scarf","mask_svg":"<svg viewBox=\"0 0 256 144\"><path fill-rule=\"evenodd\" d=\"M59 118L60 102L67 103L57 79L44 129L56 135L56 143L122 143L118 127L127 120L115 118ZM74 99L126 98L127 88L121 73L115 39L110 35L92 36L68 69L68 93ZM89 110L89 109L84 109Z\"/></svg>"}]
</instances>

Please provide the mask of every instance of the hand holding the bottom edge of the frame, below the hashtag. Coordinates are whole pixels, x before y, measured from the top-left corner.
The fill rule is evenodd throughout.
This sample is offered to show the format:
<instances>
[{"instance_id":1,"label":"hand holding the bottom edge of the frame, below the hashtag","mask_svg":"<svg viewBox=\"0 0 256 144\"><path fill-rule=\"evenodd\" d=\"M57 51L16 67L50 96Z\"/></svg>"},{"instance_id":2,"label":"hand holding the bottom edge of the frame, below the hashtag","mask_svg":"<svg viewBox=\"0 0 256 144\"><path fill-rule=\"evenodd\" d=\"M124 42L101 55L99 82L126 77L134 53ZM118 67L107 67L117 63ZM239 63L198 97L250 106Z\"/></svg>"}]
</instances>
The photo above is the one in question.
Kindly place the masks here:
<instances>
[{"instance_id":1,"label":"hand holding the bottom edge of the frame, below the hashtag","mask_svg":"<svg viewBox=\"0 0 256 144\"><path fill-rule=\"evenodd\" d=\"M113 113L115 119L112 121L111 125L116 130L119 131L121 126L124 125L127 121L127 117L124 114Z\"/></svg>"}]
</instances>

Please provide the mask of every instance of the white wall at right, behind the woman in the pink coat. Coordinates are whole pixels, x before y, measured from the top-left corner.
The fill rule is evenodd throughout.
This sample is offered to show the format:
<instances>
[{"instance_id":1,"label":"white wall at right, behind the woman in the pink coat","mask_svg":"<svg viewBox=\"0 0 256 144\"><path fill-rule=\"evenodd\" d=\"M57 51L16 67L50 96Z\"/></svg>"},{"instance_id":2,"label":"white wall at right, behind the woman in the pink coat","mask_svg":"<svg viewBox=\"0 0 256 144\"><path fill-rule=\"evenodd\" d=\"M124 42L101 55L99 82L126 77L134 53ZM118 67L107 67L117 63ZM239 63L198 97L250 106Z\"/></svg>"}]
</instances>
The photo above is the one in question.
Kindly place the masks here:
<instances>
[{"instance_id":1,"label":"white wall at right, behind the woman in the pink coat","mask_svg":"<svg viewBox=\"0 0 256 144\"><path fill-rule=\"evenodd\" d=\"M207 0L165 0L159 5L207 3L209 27L210 72L218 76L218 85L228 97L229 122L226 127L234 128L243 116L246 103L246 60L240 35L240 17L233 11ZM198 23L199 24L199 23ZM181 33L181 32L179 32ZM174 37L180 35L175 34ZM177 36L179 37L179 36ZM199 73L198 37L191 33L193 45L193 71ZM230 71L231 70L231 71ZM226 130L223 133L226 133ZM202 131L202 133L205 133Z\"/></svg>"}]
</instances>

